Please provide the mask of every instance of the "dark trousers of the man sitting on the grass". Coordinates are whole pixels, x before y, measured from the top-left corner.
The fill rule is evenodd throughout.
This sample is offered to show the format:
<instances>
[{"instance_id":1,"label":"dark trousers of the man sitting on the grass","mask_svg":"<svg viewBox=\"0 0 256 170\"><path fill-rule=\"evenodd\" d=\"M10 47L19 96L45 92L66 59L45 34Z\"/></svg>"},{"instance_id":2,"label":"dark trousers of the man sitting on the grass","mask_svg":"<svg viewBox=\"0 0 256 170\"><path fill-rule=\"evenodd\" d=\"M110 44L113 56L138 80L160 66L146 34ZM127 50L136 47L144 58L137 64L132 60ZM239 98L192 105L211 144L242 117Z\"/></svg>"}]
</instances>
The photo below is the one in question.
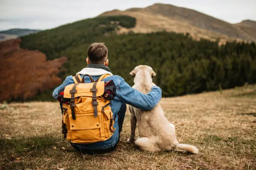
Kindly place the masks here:
<instances>
[{"instance_id":1,"label":"dark trousers of the man sitting on the grass","mask_svg":"<svg viewBox=\"0 0 256 170\"><path fill-rule=\"evenodd\" d=\"M123 120L124 120L124 117L125 117L125 112L126 112L126 104L122 103L122 105L120 107L120 110L118 111L118 126L119 126L118 142L119 142L119 139L120 139L120 133L121 133L122 128L123 128ZM108 152L114 151L117 147L118 142L114 146L111 146L110 148L97 149L97 150L87 150L87 149L79 148L76 145L74 145L73 143L70 143L70 144L72 145L73 148L75 148L75 150L77 150L80 153L87 153L87 154L94 155L94 154L108 153Z\"/></svg>"}]
</instances>

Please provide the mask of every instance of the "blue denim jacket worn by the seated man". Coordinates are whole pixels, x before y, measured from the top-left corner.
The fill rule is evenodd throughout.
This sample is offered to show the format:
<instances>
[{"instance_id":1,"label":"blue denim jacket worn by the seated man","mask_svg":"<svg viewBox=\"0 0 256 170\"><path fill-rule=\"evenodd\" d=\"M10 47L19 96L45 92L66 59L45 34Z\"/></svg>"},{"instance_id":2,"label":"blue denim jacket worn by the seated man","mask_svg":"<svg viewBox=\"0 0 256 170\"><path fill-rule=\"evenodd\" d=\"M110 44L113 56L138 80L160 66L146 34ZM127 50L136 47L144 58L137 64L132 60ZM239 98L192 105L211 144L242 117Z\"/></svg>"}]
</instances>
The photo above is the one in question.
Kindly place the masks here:
<instances>
[{"instance_id":1,"label":"blue denim jacket worn by the seated man","mask_svg":"<svg viewBox=\"0 0 256 170\"><path fill-rule=\"evenodd\" d=\"M81 77L83 76L84 75L81 75ZM99 77L100 76L92 76L94 80L97 80ZM118 111L120 110L120 107L123 102L131 106L137 107L139 109L151 110L157 105L157 103L161 99L161 89L157 86L153 86L151 88L151 91L145 95L139 92L138 90L131 88L131 86L128 85L125 82L125 80L118 75L113 75L103 80L104 81L113 80L116 85L115 98L114 100L110 100L111 110L114 116L116 117L115 123L114 123L114 128L116 129L115 133L111 136L111 138L102 142L90 143L90 144L74 144L80 148L84 148L88 150L106 149L111 146L114 146L118 142L118 137L119 137ZM84 77L84 82L90 82L90 78L88 76ZM73 83L74 83L74 80L72 76L71 75L68 76L64 80L64 82L53 91L53 94L52 94L53 97L56 99L58 97L59 92L63 91L67 85L70 85Z\"/></svg>"}]
</instances>

